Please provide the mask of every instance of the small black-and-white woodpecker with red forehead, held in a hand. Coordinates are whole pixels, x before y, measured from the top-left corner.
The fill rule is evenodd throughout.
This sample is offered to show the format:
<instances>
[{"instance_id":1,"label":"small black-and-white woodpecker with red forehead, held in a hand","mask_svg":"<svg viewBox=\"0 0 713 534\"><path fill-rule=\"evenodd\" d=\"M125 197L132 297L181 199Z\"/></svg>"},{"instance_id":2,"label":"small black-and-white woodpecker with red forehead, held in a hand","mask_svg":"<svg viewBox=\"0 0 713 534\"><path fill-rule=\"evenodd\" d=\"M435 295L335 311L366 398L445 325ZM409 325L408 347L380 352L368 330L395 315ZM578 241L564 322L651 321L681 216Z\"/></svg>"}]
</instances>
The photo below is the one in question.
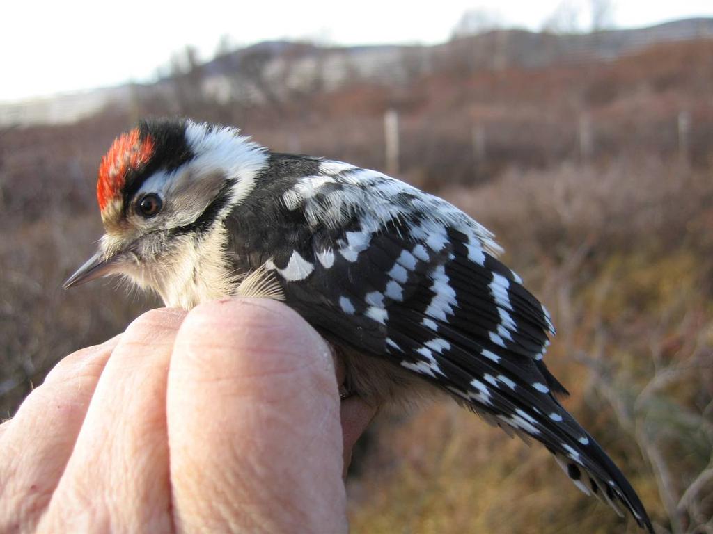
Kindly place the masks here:
<instances>
[{"instance_id":1,"label":"small black-and-white woodpecker with red forehead, held in a hand","mask_svg":"<svg viewBox=\"0 0 713 534\"><path fill-rule=\"evenodd\" d=\"M560 403L555 328L494 235L386 174L271 152L237 127L142 120L101 159L98 251L64 283L122 276L190 309L282 300L342 355L349 394L444 392L543 444L581 491L652 533L634 489Z\"/></svg>"}]
</instances>

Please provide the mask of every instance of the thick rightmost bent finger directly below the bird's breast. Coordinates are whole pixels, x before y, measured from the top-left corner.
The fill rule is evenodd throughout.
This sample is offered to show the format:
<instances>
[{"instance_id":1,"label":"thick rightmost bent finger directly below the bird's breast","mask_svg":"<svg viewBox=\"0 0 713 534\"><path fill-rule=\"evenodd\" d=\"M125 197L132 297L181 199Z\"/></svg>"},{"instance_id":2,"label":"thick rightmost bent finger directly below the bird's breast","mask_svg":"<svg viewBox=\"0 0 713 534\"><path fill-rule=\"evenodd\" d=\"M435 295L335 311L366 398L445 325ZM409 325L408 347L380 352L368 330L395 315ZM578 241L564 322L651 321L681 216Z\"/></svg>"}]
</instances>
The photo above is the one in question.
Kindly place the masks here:
<instances>
[{"instance_id":1,"label":"thick rightmost bent finger directly below the bird's breast","mask_svg":"<svg viewBox=\"0 0 713 534\"><path fill-rule=\"evenodd\" d=\"M179 532L345 530L334 363L293 310L262 299L193 310L167 411Z\"/></svg>"}]
</instances>

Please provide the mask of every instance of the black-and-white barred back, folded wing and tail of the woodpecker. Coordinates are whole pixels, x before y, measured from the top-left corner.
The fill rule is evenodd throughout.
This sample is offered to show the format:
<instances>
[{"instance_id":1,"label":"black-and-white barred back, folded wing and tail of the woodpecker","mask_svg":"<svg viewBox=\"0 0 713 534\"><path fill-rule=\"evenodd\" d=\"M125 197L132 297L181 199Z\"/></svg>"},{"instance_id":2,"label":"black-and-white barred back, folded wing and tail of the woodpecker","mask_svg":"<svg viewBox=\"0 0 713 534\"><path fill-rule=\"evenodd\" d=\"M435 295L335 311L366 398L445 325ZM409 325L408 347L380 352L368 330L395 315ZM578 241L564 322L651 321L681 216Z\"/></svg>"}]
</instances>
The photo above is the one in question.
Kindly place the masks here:
<instances>
[{"instance_id":1,"label":"black-and-white barred back, folded wing and tail of the woodpecker","mask_svg":"<svg viewBox=\"0 0 713 534\"><path fill-rule=\"evenodd\" d=\"M550 315L496 259L493 234L443 199L342 162L272 154L257 185L228 216L230 248L272 269L289 305L339 344L540 441L581 491L652 532L626 478L555 397L567 391L543 361Z\"/></svg>"}]
</instances>

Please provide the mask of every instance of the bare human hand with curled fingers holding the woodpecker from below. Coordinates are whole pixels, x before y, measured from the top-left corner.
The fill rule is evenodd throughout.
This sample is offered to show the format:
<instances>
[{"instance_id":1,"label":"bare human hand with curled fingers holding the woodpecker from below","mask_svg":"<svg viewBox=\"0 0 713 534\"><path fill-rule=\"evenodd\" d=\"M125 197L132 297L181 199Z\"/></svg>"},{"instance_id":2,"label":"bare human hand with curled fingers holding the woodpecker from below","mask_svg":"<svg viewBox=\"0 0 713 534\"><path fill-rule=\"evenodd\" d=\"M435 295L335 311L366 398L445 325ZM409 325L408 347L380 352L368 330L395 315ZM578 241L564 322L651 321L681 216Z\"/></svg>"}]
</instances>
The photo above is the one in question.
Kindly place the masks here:
<instances>
[{"instance_id":1,"label":"bare human hand with curled fingers holding the woodpecker from below","mask_svg":"<svg viewBox=\"0 0 713 534\"><path fill-rule=\"evenodd\" d=\"M273 300L145 313L0 425L0 532L344 532L374 409L338 367Z\"/></svg>"}]
</instances>

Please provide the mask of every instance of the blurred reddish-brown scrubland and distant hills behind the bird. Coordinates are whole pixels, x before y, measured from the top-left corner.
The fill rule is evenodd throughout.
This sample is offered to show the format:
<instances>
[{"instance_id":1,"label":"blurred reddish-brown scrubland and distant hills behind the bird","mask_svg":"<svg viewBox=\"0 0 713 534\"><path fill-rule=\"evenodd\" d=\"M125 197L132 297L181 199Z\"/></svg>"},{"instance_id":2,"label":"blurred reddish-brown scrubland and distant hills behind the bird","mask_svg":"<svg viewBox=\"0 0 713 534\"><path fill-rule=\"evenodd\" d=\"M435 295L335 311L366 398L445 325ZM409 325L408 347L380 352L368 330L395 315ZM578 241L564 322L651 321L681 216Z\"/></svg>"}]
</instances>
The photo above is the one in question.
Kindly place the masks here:
<instances>
[{"instance_id":1,"label":"blurred reddish-brown scrubland and distant hills behind the bird","mask_svg":"<svg viewBox=\"0 0 713 534\"><path fill-rule=\"evenodd\" d=\"M157 83L80 98L90 111L0 106L0 417L159 304L61 283L101 235L113 138L185 115L388 170L495 231L553 313L565 406L658 533L713 533L713 19L575 34L555 15L531 33L471 12L438 46L186 48ZM349 495L354 533L637 531L453 403L381 414Z\"/></svg>"}]
</instances>

